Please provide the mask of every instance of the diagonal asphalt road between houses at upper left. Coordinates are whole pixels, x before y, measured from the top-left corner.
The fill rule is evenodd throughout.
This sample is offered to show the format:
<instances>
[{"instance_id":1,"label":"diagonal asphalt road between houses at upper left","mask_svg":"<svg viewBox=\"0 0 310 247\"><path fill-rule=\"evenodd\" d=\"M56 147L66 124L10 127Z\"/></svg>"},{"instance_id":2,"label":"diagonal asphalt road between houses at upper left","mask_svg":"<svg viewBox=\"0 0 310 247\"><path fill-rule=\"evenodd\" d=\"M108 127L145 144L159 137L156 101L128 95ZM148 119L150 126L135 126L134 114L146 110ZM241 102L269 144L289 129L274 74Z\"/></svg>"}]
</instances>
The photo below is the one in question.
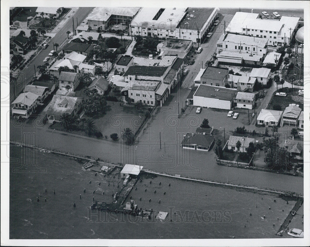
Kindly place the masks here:
<instances>
[{"instance_id":1,"label":"diagonal asphalt road between houses at upper left","mask_svg":"<svg viewBox=\"0 0 310 247\"><path fill-rule=\"evenodd\" d=\"M74 20L78 18L81 23L82 20L84 20L86 16L92 11L92 9L93 7L79 8L71 17L74 17ZM68 35L66 32L68 30L72 32L72 22L70 20L67 21L64 26L56 33L55 37L51 38L50 42L48 42L50 45L47 47L47 49L42 49L38 55L20 72L16 80L17 83L15 85L15 95L18 95L35 75L34 66L36 67L36 72L38 75L37 66L42 65L44 58L48 56L51 50L53 50L53 42L62 44L67 39Z\"/></svg>"}]
</instances>

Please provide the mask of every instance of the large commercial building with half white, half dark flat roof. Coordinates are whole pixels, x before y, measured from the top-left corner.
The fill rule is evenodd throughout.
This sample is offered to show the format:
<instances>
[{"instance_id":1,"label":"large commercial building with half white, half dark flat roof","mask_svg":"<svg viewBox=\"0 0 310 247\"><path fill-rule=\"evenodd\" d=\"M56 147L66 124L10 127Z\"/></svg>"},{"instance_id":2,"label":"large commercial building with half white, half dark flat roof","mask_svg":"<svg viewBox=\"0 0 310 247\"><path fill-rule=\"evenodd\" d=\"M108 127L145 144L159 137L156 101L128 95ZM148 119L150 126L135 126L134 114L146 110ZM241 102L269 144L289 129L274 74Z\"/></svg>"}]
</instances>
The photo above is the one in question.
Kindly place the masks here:
<instances>
[{"instance_id":1,"label":"large commercial building with half white, half dark flat roof","mask_svg":"<svg viewBox=\"0 0 310 247\"><path fill-rule=\"evenodd\" d=\"M131 35L201 42L211 29L219 8L143 7L131 22Z\"/></svg>"}]
</instances>

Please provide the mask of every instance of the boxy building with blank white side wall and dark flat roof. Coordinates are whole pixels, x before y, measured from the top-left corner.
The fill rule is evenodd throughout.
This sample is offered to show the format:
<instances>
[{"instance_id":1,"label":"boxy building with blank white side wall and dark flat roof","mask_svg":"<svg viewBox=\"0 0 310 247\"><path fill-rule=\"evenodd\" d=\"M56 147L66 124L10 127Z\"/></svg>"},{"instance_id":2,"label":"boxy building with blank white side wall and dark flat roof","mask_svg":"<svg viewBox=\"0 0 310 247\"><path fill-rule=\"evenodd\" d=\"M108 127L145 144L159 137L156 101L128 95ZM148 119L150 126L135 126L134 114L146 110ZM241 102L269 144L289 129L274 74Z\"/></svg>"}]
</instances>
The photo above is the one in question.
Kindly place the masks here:
<instances>
[{"instance_id":1,"label":"boxy building with blank white side wall and dark flat roof","mask_svg":"<svg viewBox=\"0 0 310 247\"><path fill-rule=\"evenodd\" d=\"M236 95L236 89L199 85L193 95L193 105L229 110L234 105Z\"/></svg>"}]
</instances>

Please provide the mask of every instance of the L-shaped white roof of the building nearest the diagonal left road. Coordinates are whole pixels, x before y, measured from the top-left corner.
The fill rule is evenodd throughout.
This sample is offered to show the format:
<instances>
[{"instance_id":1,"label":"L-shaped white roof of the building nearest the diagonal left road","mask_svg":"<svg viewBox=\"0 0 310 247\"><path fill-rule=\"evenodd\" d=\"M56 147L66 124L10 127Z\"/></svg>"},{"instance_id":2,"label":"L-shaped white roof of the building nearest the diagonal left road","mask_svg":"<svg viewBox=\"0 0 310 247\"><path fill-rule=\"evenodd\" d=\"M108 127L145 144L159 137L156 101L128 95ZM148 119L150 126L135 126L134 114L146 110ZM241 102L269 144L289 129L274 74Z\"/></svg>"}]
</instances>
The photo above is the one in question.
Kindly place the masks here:
<instances>
[{"instance_id":1,"label":"L-shaped white roof of the building nearest the diagonal left road","mask_svg":"<svg viewBox=\"0 0 310 247\"><path fill-rule=\"evenodd\" d=\"M86 20L107 21L111 15L133 17L140 7L95 7Z\"/></svg>"}]
</instances>

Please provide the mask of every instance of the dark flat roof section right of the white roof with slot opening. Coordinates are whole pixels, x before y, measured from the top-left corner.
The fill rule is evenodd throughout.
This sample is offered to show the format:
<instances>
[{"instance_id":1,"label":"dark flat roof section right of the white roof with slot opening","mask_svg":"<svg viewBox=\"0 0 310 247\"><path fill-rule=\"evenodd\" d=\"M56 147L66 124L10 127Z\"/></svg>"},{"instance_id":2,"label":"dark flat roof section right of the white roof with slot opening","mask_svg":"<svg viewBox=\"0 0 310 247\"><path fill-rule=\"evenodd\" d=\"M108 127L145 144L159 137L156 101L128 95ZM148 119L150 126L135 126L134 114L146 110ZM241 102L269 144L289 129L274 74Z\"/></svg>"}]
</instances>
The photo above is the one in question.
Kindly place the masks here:
<instances>
[{"instance_id":1,"label":"dark flat roof section right of the white roof with slot opening","mask_svg":"<svg viewBox=\"0 0 310 247\"><path fill-rule=\"evenodd\" d=\"M202 30L204 24L208 21L209 17L215 9L216 8L189 7L187 9L187 14L180 21L178 28Z\"/></svg>"}]
</instances>

